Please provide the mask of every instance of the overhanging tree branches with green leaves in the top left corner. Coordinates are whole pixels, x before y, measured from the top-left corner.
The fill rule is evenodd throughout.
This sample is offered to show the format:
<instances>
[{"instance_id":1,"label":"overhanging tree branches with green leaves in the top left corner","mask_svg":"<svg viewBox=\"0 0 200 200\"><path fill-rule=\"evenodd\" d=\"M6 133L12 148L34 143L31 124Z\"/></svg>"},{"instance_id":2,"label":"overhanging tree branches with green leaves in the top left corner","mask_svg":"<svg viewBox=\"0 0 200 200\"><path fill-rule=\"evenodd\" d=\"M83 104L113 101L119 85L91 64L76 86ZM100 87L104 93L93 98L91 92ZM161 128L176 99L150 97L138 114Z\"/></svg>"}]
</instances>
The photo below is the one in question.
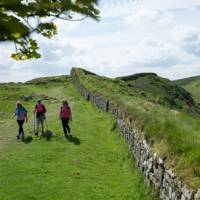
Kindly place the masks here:
<instances>
[{"instance_id":1,"label":"overhanging tree branches with green leaves in the top left corner","mask_svg":"<svg viewBox=\"0 0 200 200\"><path fill-rule=\"evenodd\" d=\"M16 60L40 58L32 33L47 38L57 33L55 19L99 19L98 0L0 0L0 42L15 44ZM78 16L80 18L77 18Z\"/></svg>"}]
</instances>

